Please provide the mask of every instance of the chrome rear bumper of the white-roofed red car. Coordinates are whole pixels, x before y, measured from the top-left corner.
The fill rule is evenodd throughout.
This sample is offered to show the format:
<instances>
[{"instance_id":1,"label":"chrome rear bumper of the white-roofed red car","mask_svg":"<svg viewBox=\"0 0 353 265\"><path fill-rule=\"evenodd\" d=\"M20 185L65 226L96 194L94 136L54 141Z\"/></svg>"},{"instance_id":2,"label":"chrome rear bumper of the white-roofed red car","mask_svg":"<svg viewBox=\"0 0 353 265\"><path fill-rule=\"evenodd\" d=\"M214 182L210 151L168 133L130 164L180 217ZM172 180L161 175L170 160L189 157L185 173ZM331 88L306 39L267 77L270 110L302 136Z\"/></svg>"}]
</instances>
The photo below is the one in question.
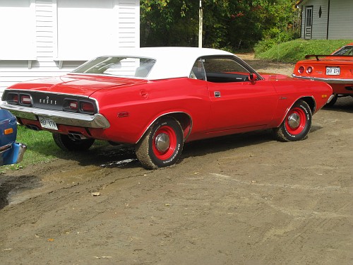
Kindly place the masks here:
<instances>
[{"instance_id":1,"label":"chrome rear bumper of the white-roofed red car","mask_svg":"<svg viewBox=\"0 0 353 265\"><path fill-rule=\"evenodd\" d=\"M5 103L1 105L2 109L12 112L13 115L23 119L38 120L37 116L52 119L57 124L69 126L80 126L88 128L109 128L108 120L102 114L79 114L72 112L59 112L56 110L42 110L34 107L23 107Z\"/></svg>"}]
</instances>

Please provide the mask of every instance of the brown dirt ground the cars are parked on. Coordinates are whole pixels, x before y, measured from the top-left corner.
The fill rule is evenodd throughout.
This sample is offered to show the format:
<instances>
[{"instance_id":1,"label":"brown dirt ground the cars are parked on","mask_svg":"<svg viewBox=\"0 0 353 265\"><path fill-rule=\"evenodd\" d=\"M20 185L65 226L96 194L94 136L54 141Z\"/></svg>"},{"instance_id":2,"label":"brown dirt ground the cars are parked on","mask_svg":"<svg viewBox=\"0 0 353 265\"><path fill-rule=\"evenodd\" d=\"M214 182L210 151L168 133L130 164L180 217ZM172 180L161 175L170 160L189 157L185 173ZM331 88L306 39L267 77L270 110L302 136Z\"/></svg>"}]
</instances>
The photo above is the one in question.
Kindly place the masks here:
<instances>
[{"instance_id":1,"label":"brown dirt ground the cars are parked on","mask_svg":"<svg viewBox=\"0 0 353 265\"><path fill-rule=\"evenodd\" d=\"M94 146L0 175L0 264L353 264L352 113L340 98L304 141L197 141L160 170Z\"/></svg>"}]
</instances>

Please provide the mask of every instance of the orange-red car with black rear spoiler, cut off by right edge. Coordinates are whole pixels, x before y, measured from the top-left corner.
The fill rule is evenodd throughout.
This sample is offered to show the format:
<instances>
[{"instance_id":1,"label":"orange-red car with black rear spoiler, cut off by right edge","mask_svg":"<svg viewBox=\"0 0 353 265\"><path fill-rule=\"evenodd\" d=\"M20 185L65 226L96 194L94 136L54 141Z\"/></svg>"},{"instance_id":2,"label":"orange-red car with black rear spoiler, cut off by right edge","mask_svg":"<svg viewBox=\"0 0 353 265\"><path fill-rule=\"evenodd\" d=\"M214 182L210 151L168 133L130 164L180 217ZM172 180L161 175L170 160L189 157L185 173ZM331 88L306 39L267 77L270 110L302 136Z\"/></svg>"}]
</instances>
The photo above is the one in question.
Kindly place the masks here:
<instances>
[{"instance_id":1,"label":"orange-red car with black rear spoiler, cut off by right edge","mask_svg":"<svg viewBox=\"0 0 353 265\"><path fill-rule=\"evenodd\" d=\"M297 62L292 76L329 83L335 97L328 106L334 105L338 97L353 96L353 43L333 54L306 55L305 59Z\"/></svg>"}]
</instances>

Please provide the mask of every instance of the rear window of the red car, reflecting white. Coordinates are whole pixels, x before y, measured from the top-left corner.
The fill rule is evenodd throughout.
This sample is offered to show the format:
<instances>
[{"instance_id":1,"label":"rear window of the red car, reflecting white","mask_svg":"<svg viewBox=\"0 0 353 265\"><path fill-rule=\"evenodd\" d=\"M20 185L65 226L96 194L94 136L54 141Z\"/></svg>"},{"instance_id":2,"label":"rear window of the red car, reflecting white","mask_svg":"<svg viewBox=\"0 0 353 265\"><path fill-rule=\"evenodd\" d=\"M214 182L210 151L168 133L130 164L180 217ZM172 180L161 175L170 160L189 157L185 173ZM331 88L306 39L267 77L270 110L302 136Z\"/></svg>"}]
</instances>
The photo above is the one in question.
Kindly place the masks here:
<instances>
[{"instance_id":1,"label":"rear window of the red car, reflecting white","mask_svg":"<svg viewBox=\"0 0 353 265\"><path fill-rule=\"evenodd\" d=\"M97 57L73 70L72 73L104 74L145 78L154 59L136 57Z\"/></svg>"}]
</instances>

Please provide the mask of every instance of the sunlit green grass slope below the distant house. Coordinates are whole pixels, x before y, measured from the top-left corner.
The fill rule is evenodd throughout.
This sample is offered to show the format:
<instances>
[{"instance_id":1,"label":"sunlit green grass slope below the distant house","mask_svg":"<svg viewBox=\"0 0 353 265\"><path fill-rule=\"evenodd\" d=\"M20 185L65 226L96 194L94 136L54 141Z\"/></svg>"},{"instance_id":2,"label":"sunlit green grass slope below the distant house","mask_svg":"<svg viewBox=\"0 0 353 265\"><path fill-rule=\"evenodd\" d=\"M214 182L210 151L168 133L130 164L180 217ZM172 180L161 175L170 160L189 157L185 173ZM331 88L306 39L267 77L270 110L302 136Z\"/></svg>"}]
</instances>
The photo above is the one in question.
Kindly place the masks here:
<instances>
[{"instance_id":1,"label":"sunlit green grass slope below the distant house","mask_svg":"<svg viewBox=\"0 0 353 265\"><path fill-rule=\"evenodd\" d=\"M254 49L257 59L295 63L304 59L306 54L331 54L336 49L346 45L349 42L353 42L353 40L298 39L280 43L265 52L259 52L259 49L256 49L256 47Z\"/></svg>"}]
</instances>

